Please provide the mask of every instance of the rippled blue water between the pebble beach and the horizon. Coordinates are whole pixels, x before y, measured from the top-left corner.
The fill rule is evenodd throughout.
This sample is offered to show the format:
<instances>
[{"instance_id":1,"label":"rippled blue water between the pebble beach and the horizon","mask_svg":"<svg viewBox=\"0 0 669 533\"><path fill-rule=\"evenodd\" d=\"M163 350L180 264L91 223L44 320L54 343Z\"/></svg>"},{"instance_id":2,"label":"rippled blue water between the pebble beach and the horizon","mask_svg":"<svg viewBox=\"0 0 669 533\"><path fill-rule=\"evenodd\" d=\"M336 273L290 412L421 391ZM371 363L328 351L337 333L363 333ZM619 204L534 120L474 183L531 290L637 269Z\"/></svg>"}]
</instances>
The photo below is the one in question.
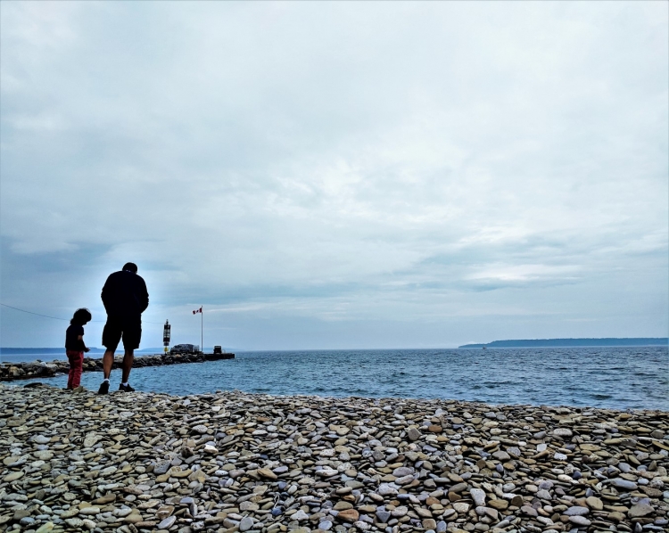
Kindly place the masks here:
<instances>
[{"instance_id":1,"label":"rippled blue water between the pebble beach and the horizon","mask_svg":"<svg viewBox=\"0 0 669 533\"><path fill-rule=\"evenodd\" d=\"M64 387L67 378L36 381ZM96 390L100 381L102 373L82 376L87 389ZM120 370L114 370L112 389L119 381ZM130 382L138 390L176 395L239 389L273 395L451 398L491 404L669 411L669 349L246 352L234 360L135 368Z\"/></svg>"}]
</instances>

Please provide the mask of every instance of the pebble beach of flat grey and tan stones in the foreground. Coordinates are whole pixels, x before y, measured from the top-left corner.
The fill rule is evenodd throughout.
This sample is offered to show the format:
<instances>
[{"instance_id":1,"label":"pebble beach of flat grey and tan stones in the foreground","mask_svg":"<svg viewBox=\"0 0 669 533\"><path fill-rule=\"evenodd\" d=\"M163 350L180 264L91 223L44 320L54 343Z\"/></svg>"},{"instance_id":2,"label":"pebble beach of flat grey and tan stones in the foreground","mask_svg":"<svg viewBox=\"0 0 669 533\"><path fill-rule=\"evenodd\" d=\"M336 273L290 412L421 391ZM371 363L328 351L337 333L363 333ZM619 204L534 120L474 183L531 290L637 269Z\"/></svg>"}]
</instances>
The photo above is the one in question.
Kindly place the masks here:
<instances>
[{"instance_id":1,"label":"pebble beach of flat grey and tan stones in the foreground","mask_svg":"<svg viewBox=\"0 0 669 533\"><path fill-rule=\"evenodd\" d=\"M669 530L669 413L0 384L0 530Z\"/></svg>"}]
</instances>

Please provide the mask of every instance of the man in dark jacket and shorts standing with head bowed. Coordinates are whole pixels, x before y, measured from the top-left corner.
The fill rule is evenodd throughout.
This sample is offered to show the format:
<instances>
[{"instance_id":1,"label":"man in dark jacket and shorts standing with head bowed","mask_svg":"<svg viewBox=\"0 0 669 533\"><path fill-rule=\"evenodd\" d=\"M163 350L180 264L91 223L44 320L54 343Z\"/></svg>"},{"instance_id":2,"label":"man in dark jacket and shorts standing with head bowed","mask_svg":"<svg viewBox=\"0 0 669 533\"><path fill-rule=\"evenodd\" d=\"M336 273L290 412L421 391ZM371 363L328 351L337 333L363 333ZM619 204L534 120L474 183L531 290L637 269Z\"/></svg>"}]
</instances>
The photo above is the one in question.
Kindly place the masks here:
<instances>
[{"instance_id":1,"label":"man in dark jacket and shorts standing with head bowed","mask_svg":"<svg viewBox=\"0 0 669 533\"><path fill-rule=\"evenodd\" d=\"M109 392L109 374L114 363L114 351L123 339L123 375L119 390L132 392L128 383L130 369L135 359L135 350L142 339L142 313L149 307L149 293L146 283L137 275L135 263L126 263L123 270L111 274L103 287L103 304L107 311L107 324L104 324L103 346L107 348L103 356L104 381L98 394Z\"/></svg>"}]
</instances>

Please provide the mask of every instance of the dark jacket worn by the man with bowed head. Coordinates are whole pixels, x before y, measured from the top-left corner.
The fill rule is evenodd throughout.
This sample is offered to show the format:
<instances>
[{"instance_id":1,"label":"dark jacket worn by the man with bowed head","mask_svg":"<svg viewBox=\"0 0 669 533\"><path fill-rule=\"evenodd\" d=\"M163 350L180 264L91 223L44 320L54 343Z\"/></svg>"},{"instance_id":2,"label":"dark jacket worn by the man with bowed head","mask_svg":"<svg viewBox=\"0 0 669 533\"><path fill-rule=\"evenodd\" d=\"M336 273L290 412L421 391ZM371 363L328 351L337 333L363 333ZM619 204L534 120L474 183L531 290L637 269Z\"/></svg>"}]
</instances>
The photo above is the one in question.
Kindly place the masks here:
<instances>
[{"instance_id":1,"label":"dark jacket worn by the man with bowed head","mask_svg":"<svg viewBox=\"0 0 669 533\"><path fill-rule=\"evenodd\" d=\"M144 279L128 270L114 272L107 278L102 298L109 316L140 316L149 307Z\"/></svg>"}]
</instances>

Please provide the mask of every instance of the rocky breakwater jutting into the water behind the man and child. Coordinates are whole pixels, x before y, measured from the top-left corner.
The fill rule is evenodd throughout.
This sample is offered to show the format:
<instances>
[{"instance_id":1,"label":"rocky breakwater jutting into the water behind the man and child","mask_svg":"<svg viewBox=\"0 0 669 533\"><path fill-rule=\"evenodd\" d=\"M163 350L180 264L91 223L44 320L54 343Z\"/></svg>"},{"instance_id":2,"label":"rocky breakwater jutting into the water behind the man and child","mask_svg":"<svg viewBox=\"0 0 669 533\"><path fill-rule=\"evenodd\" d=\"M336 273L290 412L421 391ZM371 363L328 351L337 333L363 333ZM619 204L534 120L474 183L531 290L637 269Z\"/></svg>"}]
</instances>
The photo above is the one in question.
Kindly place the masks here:
<instances>
[{"instance_id":1,"label":"rocky breakwater jutting into the water behind the man and child","mask_svg":"<svg viewBox=\"0 0 669 533\"><path fill-rule=\"evenodd\" d=\"M178 355L155 355L155 356L136 356L133 362L133 368L142 368L145 366L161 365L181 365L184 363L204 363L206 361L219 361L221 359L234 359L235 354L178 354ZM123 356L114 357L112 368L120 368L123 363ZM103 360L84 358L84 372L102 372ZM68 373L70 363L60 359L55 359L49 363L4 363L0 365L0 381L28 380L35 378L51 378L58 373Z\"/></svg>"}]
</instances>

